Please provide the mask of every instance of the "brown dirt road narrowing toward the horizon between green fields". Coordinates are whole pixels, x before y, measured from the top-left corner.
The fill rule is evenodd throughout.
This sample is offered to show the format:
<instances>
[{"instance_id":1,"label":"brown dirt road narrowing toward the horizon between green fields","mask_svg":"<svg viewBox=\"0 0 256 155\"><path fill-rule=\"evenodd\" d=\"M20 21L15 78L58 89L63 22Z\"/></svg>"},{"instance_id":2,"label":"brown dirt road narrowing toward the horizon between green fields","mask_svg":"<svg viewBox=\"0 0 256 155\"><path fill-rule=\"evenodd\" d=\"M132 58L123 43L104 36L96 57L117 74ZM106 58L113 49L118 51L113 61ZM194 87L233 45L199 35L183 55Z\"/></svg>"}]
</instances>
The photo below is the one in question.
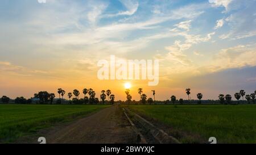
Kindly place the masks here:
<instances>
[{"instance_id":1,"label":"brown dirt road narrowing toward the horizon between green fields","mask_svg":"<svg viewBox=\"0 0 256 155\"><path fill-rule=\"evenodd\" d=\"M134 143L135 133L117 105L42 135L47 143Z\"/></svg>"}]
</instances>

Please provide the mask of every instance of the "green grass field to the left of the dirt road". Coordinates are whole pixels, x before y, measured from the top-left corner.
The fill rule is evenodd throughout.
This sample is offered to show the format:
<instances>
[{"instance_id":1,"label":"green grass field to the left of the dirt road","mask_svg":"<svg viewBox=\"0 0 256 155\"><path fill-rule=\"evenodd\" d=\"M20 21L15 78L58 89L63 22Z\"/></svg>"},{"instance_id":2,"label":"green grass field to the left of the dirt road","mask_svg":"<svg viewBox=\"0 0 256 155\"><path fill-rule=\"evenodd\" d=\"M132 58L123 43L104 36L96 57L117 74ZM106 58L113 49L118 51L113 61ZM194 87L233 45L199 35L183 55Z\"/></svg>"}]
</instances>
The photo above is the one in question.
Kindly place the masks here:
<instances>
[{"instance_id":1,"label":"green grass field to the left of the dirt road","mask_svg":"<svg viewBox=\"0 0 256 155\"><path fill-rule=\"evenodd\" d=\"M0 104L0 143L9 143L27 133L68 122L105 107L108 106Z\"/></svg>"}]
</instances>

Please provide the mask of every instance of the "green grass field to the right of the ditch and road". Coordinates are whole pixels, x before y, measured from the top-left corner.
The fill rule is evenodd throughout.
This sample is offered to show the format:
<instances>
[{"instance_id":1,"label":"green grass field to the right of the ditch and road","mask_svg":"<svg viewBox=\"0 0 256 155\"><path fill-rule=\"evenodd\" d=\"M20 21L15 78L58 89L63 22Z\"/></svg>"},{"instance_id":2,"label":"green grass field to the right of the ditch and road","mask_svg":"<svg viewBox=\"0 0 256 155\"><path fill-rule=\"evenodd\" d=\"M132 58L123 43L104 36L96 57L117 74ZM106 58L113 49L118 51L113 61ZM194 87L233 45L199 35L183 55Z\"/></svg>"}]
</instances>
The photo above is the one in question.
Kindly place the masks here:
<instances>
[{"instance_id":1,"label":"green grass field to the right of the ditch and road","mask_svg":"<svg viewBox=\"0 0 256 155\"><path fill-rule=\"evenodd\" d=\"M167 125L182 143L256 143L256 105L134 105L131 110Z\"/></svg>"}]
</instances>

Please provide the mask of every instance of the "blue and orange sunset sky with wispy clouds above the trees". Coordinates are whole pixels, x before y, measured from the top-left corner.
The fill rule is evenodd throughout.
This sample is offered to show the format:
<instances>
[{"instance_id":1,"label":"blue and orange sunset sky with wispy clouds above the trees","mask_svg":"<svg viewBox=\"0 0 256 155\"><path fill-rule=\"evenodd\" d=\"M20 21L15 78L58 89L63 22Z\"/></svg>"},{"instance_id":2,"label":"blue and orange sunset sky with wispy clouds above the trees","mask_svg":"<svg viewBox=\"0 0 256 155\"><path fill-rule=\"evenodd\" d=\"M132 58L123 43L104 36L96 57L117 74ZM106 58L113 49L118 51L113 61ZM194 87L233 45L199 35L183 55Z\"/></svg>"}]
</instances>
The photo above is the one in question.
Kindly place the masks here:
<instances>
[{"instance_id":1,"label":"blue and orange sunset sky with wispy clouds above the trees","mask_svg":"<svg viewBox=\"0 0 256 155\"><path fill-rule=\"evenodd\" d=\"M110 89L156 99L203 99L256 90L255 0L2 0L0 95ZM99 60L159 60L159 84L100 80ZM81 93L82 94L82 93Z\"/></svg>"}]
</instances>

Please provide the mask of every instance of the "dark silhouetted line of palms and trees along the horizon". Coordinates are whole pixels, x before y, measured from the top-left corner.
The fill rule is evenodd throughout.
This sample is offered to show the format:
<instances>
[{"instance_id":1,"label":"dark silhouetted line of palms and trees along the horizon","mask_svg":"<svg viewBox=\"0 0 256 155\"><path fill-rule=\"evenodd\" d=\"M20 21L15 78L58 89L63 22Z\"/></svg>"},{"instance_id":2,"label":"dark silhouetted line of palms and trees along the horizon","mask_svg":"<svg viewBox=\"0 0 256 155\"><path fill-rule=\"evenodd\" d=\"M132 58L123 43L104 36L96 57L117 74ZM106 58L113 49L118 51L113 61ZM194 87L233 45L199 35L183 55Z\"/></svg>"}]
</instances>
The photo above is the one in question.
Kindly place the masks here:
<instances>
[{"instance_id":1,"label":"dark silhouetted line of palms and trees along the horizon","mask_svg":"<svg viewBox=\"0 0 256 155\"><path fill-rule=\"evenodd\" d=\"M138 94L139 94L139 101L136 102L135 100L131 100L131 94L130 94L130 89L126 89L125 94L126 94L126 101L125 103L135 103L135 104L168 104L168 103L179 103L179 104L183 104L184 100L182 98L180 98L179 100L177 100L175 95L172 95L170 97L170 100L164 100L164 101L156 101L155 100L155 95L156 95L156 91L155 90L151 90L152 91L152 98L147 98L146 94L143 94L143 89L139 88L138 89ZM188 95L188 100L187 103L192 103L191 101L191 97L189 96L191 94L191 89L185 89L185 93ZM33 100L36 99L36 103L38 104L64 104L67 103L68 104L114 104L115 102L115 95L112 94L111 90L102 90L100 93L100 99L96 98L96 92L93 89L83 89L82 90L82 94L84 94L84 97L79 98L80 96L80 91L75 89L73 90L73 92L69 92L67 93L67 97L69 100L65 100L64 99L64 95L66 94L65 90L63 89L57 89L57 94L59 94L59 99L55 99L55 94L54 93L48 93L47 91L39 91L38 93L34 94L33 98L30 99L26 99L24 97L16 97L16 99L14 100L14 103L16 104L31 104L33 102ZM240 104L240 99L242 97L242 100L245 99L247 100L247 103L253 103L255 104L255 94L256 94L256 90L254 91L254 93L251 94L246 94L245 90L240 90L238 93L234 94L234 98L237 99L237 103L236 104ZM202 93L197 93L197 104L201 104L201 99L203 99L203 94ZM73 97L73 98L72 98ZM108 99L107 99L108 97ZM154 98L154 99L153 99ZM107 100L106 100L107 99ZM10 98L3 96L1 98L1 102L2 103L9 103L10 102ZM55 102L55 103L53 103ZM119 102L122 102L121 100L119 100ZM218 102L220 104L234 104L234 102L232 102L232 95L230 94L220 94L218 95Z\"/></svg>"}]
</instances>

